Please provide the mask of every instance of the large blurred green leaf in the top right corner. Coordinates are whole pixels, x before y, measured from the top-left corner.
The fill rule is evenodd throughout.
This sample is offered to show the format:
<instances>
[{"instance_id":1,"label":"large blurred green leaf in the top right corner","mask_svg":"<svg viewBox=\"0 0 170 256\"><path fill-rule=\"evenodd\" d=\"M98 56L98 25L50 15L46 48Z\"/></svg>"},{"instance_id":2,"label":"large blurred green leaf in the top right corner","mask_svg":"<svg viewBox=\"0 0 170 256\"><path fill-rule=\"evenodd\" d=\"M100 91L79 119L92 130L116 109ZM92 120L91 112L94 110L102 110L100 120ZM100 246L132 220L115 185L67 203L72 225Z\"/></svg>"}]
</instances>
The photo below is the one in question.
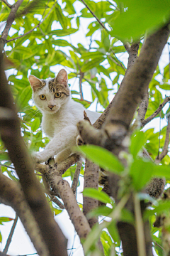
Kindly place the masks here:
<instances>
[{"instance_id":1,"label":"large blurred green leaf in the top right corner","mask_svg":"<svg viewBox=\"0 0 170 256\"><path fill-rule=\"evenodd\" d=\"M126 11L110 23L111 36L116 38L138 38L147 29L162 26L169 18L169 0L123 0L122 3Z\"/></svg>"}]
</instances>

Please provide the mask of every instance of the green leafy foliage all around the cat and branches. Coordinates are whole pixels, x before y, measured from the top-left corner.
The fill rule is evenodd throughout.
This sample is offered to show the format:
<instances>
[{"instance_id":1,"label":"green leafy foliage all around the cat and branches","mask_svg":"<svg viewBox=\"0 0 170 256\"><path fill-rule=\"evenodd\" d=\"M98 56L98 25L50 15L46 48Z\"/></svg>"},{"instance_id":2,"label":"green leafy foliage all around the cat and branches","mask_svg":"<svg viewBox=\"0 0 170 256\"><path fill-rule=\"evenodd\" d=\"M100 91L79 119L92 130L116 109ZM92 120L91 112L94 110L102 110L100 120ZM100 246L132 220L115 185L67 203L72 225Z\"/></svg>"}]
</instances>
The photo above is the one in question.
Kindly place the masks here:
<instances>
[{"instance_id":1,"label":"green leafy foliage all around the cat and branches","mask_svg":"<svg viewBox=\"0 0 170 256\"><path fill-rule=\"evenodd\" d=\"M62 1L53 0L24 0L8 35L8 42L5 46L6 59L10 63L10 66L8 64L6 68L8 85L11 87L18 106L22 136L30 151L39 151L44 148L49 139L40 129L42 115L31 100L32 90L28 82L28 75L31 73L40 79L53 78L62 65L69 73L69 83L74 100L83 103L85 107L93 104L96 105L96 110L103 110L117 92L123 75L125 75L125 65L121 61L121 57L127 55L123 42L129 39L131 43L132 38L139 40L147 33L152 33L153 29L166 22L170 9L168 0L123 0L121 2L86 0L85 3L108 29L105 30L100 26L81 1L65 0L62 3ZM0 9L0 21L5 22L11 9L2 1ZM83 23L88 24L88 29L81 39ZM33 30L33 28L35 29ZM33 31L29 33L31 30ZM24 33L26 35L22 36ZM74 38L81 40L75 43ZM83 92L88 86L90 87L91 102L87 101L89 99L80 99L78 83L81 75ZM157 67L149 84L149 107L145 118L157 110L163 102L164 98L161 92L166 93L169 90L168 81L169 65L164 67L163 72ZM74 86L74 83L77 86ZM167 113L169 113L169 109L160 112L160 120L166 119ZM130 191L138 193L155 174L166 176L170 180L170 169L167 166L170 163L169 155L162 159L162 166L159 168L138 156L140 149L145 145L152 159L155 159L158 152L162 151L164 147L165 137L166 127L160 128L159 132L147 129L145 132L132 134L130 154L124 155L128 159L128 167L125 170L120 161L105 149L96 146L82 146L81 151L84 151L89 159L102 168L122 176L123 189L120 193L121 196L126 196ZM10 169L11 161L8 159L6 148L2 142L0 150L1 164L9 166L8 168L1 166L2 171L11 179L18 180L13 169ZM76 166L70 167L63 177L70 176L73 179L75 169ZM83 174L84 168L81 169L81 175ZM41 181L41 178L39 179ZM103 203L110 203L111 206L111 208L101 206L89 213L89 216L112 217L111 223L104 221L101 225L94 227L89 238L84 242L86 252L96 250L94 245L101 234L105 255L113 255L111 253L114 252L118 255L121 253L121 247L115 221L119 218L134 223L132 215L123 210L123 207L115 206L111 198L103 192L85 190L84 196L97 198ZM60 208L51 202L50 206L55 214L61 212ZM152 226L155 215L168 208L169 203L160 202L159 206L147 210L145 218L149 218ZM108 231L102 231L103 228L107 228ZM158 237L155 235L157 231L159 231ZM152 226L152 235L157 245L162 245L161 234L158 228ZM162 255L162 250L157 245L155 243L157 255Z\"/></svg>"}]
</instances>

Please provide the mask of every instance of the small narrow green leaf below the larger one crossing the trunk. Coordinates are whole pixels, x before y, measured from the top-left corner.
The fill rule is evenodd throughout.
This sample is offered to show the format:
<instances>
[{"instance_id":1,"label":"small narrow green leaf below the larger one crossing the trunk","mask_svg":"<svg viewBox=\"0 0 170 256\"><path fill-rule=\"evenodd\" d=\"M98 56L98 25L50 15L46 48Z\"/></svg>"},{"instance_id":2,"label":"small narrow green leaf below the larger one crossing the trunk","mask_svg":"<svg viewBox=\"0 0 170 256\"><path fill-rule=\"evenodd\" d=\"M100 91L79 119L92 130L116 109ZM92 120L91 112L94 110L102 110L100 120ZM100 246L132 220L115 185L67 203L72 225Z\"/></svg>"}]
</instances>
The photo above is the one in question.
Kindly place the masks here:
<instances>
[{"instance_id":1,"label":"small narrow green leaf below the larger one crossing the trunk","mask_svg":"<svg viewBox=\"0 0 170 256\"><path fill-rule=\"evenodd\" d=\"M83 195L89 198L97 199L102 203L111 203L111 198L105 192L97 191L96 188L84 188Z\"/></svg>"}]
</instances>

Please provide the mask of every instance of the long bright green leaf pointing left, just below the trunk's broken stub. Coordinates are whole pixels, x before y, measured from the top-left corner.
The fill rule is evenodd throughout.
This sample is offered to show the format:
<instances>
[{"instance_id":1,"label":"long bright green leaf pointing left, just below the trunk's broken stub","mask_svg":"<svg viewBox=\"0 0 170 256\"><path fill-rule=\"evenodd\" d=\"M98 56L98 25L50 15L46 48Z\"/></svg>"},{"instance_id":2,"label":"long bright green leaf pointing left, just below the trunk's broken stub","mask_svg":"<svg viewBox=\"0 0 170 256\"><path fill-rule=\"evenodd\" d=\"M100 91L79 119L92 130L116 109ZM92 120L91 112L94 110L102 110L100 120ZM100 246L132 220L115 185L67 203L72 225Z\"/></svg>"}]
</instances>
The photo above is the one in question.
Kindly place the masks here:
<instances>
[{"instance_id":1,"label":"long bright green leaf pointing left, just below the trunk's broken stub","mask_svg":"<svg viewBox=\"0 0 170 256\"><path fill-rule=\"evenodd\" d=\"M98 164L98 166L101 166L107 171L120 174L120 172L124 170L124 166L120 163L118 158L110 151L103 149L100 146L80 146L78 150L83 151L88 159L94 161L95 164Z\"/></svg>"}]
</instances>

